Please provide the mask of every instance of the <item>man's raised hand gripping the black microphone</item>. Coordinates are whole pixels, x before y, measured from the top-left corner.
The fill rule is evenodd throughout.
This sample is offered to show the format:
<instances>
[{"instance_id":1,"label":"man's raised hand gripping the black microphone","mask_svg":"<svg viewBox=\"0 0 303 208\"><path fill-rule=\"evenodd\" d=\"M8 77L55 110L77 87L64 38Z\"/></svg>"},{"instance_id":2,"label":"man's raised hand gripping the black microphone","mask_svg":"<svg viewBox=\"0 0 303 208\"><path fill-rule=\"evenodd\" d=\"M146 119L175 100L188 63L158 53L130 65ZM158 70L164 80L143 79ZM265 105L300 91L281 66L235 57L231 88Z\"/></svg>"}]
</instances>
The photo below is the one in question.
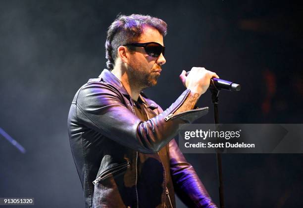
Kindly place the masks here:
<instances>
[{"instance_id":1,"label":"man's raised hand gripping the black microphone","mask_svg":"<svg viewBox=\"0 0 303 208\"><path fill-rule=\"evenodd\" d=\"M219 76L212 71L201 67L193 67L191 72L186 76L186 71L183 70L180 74L180 79L183 85L190 89L192 93L199 94L199 97L206 92L209 87L210 79L212 77L219 78Z\"/></svg>"}]
</instances>

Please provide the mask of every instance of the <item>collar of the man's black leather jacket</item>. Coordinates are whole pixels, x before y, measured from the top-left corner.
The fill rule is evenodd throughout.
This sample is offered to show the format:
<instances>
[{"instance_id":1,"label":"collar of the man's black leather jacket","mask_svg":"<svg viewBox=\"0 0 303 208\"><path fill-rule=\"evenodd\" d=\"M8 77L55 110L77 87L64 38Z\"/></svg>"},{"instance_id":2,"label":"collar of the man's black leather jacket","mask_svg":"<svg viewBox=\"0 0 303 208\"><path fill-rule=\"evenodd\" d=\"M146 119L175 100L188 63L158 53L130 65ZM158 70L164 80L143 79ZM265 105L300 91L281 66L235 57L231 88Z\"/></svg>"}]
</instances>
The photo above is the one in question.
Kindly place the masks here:
<instances>
[{"instance_id":1,"label":"collar of the man's black leather jacket","mask_svg":"<svg viewBox=\"0 0 303 208\"><path fill-rule=\"evenodd\" d=\"M115 88L117 88L123 95L127 95L130 98L130 95L122 85L121 81L108 69L103 69L101 74L99 75L101 79L103 79L105 82L113 85ZM144 94L142 92L139 95L138 99L141 99L144 104L147 104L146 100L144 99ZM130 98L131 99L131 98Z\"/></svg>"}]
</instances>

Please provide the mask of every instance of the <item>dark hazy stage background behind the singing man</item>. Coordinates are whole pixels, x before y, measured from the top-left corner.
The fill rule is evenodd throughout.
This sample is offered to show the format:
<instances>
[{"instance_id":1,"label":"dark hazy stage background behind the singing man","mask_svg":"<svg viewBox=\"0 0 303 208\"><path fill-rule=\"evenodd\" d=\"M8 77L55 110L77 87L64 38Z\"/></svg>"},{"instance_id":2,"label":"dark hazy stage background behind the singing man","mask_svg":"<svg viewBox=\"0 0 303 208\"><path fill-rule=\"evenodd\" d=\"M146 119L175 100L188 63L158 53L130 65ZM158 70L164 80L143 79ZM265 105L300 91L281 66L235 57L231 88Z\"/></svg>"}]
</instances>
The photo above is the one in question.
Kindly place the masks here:
<instances>
[{"instance_id":1,"label":"dark hazy stage background behind the singing man","mask_svg":"<svg viewBox=\"0 0 303 208\"><path fill-rule=\"evenodd\" d=\"M107 27L118 13L168 24L166 64L146 94L168 107L194 66L242 85L221 92L222 123L302 123L303 7L296 1L0 1L0 197L34 197L39 208L82 208L67 114L78 88L105 67ZM196 123L212 123L209 106ZM213 154L186 154L218 204ZM302 207L301 154L225 154L226 208ZM183 207L180 201L178 207Z\"/></svg>"}]
</instances>

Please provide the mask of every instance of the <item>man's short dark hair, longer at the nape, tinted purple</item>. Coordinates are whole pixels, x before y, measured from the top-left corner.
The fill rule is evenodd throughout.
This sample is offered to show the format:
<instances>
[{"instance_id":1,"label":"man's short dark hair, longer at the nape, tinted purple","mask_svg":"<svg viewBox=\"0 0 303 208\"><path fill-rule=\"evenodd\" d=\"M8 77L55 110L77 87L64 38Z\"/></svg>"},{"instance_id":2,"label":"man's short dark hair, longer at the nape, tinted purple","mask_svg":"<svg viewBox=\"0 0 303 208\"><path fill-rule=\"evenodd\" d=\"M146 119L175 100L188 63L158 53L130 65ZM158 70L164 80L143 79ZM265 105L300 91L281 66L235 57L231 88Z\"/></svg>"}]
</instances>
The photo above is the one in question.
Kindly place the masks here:
<instances>
[{"instance_id":1,"label":"man's short dark hair, longer at the nape, tinted purple","mask_svg":"<svg viewBox=\"0 0 303 208\"><path fill-rule=\"evenodd\" d=\"M114 68L119 46L135 41L143 31L144 26L151 26L163 36L167 34L167 24L158 18L149 15L132 14L119 15L108 28L105 42L105 58L107 69Z\"/></svg>"}]
</instances>

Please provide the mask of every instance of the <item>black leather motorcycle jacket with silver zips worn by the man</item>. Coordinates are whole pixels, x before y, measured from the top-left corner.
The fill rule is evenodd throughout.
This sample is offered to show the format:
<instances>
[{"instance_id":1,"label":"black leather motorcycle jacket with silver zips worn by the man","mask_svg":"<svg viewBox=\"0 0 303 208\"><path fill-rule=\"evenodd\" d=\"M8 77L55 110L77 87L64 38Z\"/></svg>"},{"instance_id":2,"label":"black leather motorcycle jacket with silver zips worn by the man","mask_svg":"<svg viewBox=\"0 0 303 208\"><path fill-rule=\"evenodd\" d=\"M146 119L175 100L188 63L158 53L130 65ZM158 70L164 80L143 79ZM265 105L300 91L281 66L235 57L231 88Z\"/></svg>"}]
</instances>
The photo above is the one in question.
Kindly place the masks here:
<instances>
[{"instance_id":1,"label":"black leather motorcycle jacket with silver zips worn by the man","mask_svg":"<svg viewBox=\"0 0 303 208\"><path fill-rule=\"evenodd\" d=\"M216 208L173 139L179 124L206 114L174 112L190 90L163 111L142 94L149 120L141 121L122 83L107 69L76 93L68 115L73 158L86 208Z\"/></svg>"}]
</instances>

